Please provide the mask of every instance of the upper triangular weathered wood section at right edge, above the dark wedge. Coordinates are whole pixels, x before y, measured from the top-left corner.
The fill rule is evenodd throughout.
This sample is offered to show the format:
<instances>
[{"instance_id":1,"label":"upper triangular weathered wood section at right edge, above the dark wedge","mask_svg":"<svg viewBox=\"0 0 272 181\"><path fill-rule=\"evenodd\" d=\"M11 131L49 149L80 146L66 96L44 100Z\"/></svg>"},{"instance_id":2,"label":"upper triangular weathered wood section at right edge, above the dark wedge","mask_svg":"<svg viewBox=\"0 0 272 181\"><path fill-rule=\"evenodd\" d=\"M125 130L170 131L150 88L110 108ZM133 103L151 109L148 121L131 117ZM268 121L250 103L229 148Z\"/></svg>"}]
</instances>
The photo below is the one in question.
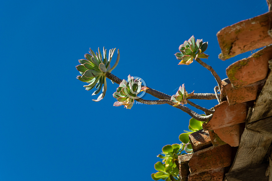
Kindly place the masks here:
<instances>
[{"instance_id":1,"label":"upper triangular weathered wood section at right edge, above the dark wedge","mask_svg":"<svg viewBox=\"0 0 272 181\"><path fill-rule=\"evenodd\" d=\"M272 116L272 71L270 71L266 83L257 98L248 124L270 116Z\"/></svg>"}]
</instances>

